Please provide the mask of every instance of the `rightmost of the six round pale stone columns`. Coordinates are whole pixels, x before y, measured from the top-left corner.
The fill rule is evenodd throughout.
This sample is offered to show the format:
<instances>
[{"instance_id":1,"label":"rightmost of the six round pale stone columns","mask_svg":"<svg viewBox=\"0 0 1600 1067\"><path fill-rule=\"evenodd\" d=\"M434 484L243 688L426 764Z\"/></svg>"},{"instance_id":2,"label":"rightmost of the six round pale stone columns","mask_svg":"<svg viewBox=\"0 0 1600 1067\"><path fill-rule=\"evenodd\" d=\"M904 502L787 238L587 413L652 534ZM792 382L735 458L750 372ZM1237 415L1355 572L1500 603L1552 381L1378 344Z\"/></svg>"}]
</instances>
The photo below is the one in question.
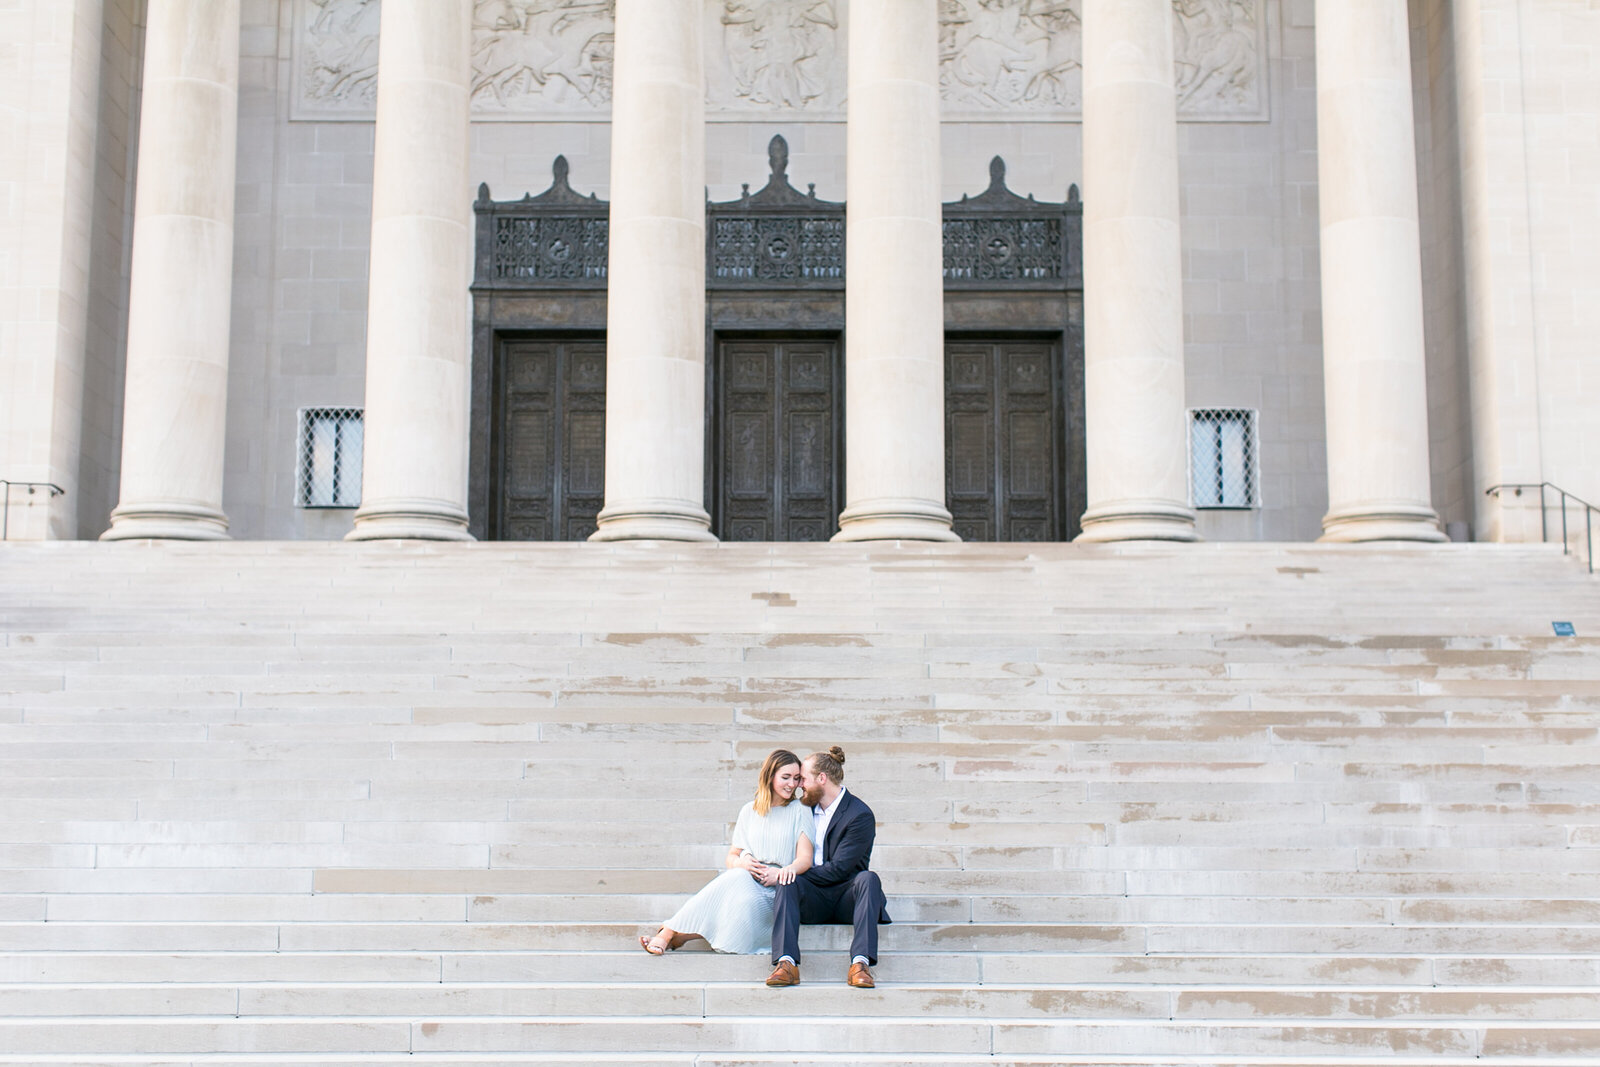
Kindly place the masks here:
<instances>
[{"instance_id":1,"label":"rightmost of the six round pale stone columns","mask_svg":"<svg viewBox=\"0 0 1600 1067\"><path fill-rule=\"evenodd\" d=\"M1443 541L1427 456L1405 0L1317 0L1323 541Z\"/></svg>"}]
</instances>

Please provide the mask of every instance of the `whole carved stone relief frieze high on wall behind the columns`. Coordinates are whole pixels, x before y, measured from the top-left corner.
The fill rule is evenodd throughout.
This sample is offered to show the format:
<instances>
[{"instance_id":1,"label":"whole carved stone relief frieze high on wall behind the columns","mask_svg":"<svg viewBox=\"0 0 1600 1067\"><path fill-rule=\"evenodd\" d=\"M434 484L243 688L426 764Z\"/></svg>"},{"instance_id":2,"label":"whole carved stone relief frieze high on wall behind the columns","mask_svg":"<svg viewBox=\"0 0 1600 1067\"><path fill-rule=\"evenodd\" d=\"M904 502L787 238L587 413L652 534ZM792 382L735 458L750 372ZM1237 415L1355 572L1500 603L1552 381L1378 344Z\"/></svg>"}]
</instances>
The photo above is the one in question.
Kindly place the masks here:
<instances>
[{"instance_id":1,"label":"whole carved stone relief frieze high on wall behind the columns","mask_svg":"<svg viewBox=\"0 0 1600 1067\"><path fill-rule=\"evenodd\" d=\"M704 0L707 118L845 117L848 0ZM1173 0L1179 117L1267 117L1269 0ZM941 91L960 122L1082 106L1082 0L939 0ZM371 118L379 0L294 0L291 117ZM605 122L614 0L474 0L475 118Z\"/></svg>"}]
</instances>

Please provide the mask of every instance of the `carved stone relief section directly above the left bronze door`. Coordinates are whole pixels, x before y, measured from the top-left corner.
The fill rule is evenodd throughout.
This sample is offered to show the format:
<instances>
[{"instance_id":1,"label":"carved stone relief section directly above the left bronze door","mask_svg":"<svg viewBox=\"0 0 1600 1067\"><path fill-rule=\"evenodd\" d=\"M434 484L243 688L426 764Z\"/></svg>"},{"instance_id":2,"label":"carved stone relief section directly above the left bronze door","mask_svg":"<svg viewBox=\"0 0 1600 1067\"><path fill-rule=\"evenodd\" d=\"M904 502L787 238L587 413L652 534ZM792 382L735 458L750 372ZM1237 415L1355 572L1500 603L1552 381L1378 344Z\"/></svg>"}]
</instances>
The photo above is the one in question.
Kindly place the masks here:
<instances>
[{"instance_id":1,"label":"carved stone relief section directly above the left bronze door","mask_svg":"<svg viewBox=\"0 0 1600 1067\"><path fill-rule=\"evenodd\" d=\"M526 110L611 99L613 0L477 0L472 102Z\"/></svg>"}]
</instances>

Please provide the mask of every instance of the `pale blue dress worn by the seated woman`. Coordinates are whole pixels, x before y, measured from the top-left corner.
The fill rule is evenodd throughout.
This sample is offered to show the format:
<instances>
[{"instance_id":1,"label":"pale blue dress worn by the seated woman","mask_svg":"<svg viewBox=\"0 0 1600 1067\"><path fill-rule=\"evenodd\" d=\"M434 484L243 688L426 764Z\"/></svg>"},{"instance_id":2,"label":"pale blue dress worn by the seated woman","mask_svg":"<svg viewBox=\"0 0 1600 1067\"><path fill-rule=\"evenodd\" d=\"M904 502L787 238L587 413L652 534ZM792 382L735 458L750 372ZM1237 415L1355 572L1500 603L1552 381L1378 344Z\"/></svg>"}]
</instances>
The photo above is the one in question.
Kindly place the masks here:
<instances>
[{"instance_id":1,"label":"pale blue dress worn by the seated woman","mask_svg":"<svg viewBox=\"0 0 1600 1067\"><path fill-rule=\"evenodd\" d=\"M739 808L733 825L733 846L754 854L770 867L794 862L802 835L814 838L811 809L798 800L755 814L755 803ZM811 840L813 848L816 841ZM749 870L733 869L717 875L709 886L688 899L667 928L699 934L717 952L770 952L773 942L773 901L778 891L763 886Z\"/></svg>"}]
</instances>

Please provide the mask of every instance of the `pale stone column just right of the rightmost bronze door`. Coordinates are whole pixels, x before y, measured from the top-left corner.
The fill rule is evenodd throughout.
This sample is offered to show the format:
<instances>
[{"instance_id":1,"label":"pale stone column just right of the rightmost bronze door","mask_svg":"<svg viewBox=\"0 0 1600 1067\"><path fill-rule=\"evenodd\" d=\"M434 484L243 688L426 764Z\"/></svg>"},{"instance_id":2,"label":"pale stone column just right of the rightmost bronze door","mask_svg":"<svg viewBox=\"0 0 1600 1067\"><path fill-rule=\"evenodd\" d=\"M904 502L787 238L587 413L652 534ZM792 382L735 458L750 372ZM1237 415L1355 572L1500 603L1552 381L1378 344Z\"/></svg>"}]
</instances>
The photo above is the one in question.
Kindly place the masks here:
<instances>
[{"instance_id":1,"label":"pale stone column just right of the rightmost bronze door","mask_svg":"<svg viewBox=\"0 0 1600 1067\"><path fill-rule=\"evenodd\" d=\"M1194 541L1170 0L1083 0L1078 541Z\"/></svg>"}]
</instances>

